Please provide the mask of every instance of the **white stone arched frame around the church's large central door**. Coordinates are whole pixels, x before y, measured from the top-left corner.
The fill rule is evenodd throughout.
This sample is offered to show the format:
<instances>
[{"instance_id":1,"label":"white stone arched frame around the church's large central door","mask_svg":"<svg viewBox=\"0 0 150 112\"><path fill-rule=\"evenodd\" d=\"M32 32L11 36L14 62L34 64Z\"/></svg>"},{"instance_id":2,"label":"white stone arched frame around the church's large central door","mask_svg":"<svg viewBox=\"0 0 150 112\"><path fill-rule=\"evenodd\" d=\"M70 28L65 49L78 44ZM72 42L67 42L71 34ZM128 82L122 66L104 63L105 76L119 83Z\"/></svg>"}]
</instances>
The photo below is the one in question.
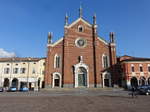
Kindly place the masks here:
<instances>
[{"instance_id":1,"label":"white stone arched frame around the church's large central door","mask_svg":"<svg viewBox=\"0 0 150 112\"><path fill-rule=\"evenodd\" d=\"M78 85L78 69L80 68L80 67L83 67L83 68L85 68L86 69L86 71L87 71L87 87L89 87L89 67L86 65L86 64L84 64L84 63L82 63L82 61L80 62L80 63L78 63L78 64L76 64L76 65L74 65L74 67L75 67L75 71L74 71L74 73L75 73L75 88L77 88L77 87L79 87L79 85Z\"/></svg>"}]
</instances>

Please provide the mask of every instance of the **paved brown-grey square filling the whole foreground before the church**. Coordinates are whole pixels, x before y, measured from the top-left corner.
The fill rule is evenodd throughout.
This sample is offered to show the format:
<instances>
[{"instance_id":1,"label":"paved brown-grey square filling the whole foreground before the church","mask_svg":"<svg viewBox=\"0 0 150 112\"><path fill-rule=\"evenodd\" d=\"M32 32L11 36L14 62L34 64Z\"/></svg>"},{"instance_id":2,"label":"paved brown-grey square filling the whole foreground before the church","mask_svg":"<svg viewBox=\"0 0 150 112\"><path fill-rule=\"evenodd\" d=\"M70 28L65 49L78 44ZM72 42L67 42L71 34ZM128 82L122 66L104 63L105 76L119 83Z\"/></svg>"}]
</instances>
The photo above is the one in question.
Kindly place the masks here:
<instances>
[{"instance_id":1,"label":"paved brown-grey square filling the whole foreground before the church","mask_svg":"<svg viewBox=\"0 0 150 112\"><path fill-rule=\"evenodd\" d=\"M150 112L150 96L120 89L49 89L0 93L0 112Z\"/></svg>"}]
</instances>

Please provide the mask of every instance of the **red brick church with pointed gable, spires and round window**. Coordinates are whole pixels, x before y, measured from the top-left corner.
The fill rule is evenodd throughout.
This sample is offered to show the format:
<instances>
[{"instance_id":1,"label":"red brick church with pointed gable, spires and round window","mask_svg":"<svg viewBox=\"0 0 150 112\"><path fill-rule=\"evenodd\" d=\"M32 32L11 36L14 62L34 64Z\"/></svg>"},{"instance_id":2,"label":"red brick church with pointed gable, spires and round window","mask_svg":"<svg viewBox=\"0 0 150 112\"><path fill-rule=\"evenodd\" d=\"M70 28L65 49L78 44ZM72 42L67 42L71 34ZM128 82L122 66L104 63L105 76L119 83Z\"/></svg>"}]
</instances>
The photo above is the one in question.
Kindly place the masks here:
<instances>
[{"instance_id":1,"label":"red brick church with pointed gable, spires and round window","mask_svg":"<svg viewBox=\"0 0 150 112\"><path fill-rule=\"evenodd\" d=\"M82 7L77 20L69 24L68 19L66 15L64 36L58 41L52 43L52 34L48 33L45 87L112 87L117 63L114 32L110 32L109 42L102 39L96 15L93 23L86 21Z\"/></svg>"}]
</instances>

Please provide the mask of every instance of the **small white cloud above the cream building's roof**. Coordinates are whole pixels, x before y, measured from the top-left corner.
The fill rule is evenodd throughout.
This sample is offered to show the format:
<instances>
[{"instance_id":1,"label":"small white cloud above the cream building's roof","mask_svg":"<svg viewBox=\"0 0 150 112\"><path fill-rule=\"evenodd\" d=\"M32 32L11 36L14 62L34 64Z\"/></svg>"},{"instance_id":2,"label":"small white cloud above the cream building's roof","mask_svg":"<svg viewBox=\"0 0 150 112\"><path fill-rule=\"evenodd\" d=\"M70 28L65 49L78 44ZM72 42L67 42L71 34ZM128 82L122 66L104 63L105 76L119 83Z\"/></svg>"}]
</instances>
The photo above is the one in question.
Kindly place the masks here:
<instances>
[{"instance_id":1,"label":"small white cloud above the cream building's roof","mask_svg":"<svg viewBox=\"0 0 150 112\"><path fill-rule=\"evenodd\" d=\"M0 48L0 58L9 58L9 57L16 57L14 52L7 52L4 49Z\"/></svg>"}]
</instances>

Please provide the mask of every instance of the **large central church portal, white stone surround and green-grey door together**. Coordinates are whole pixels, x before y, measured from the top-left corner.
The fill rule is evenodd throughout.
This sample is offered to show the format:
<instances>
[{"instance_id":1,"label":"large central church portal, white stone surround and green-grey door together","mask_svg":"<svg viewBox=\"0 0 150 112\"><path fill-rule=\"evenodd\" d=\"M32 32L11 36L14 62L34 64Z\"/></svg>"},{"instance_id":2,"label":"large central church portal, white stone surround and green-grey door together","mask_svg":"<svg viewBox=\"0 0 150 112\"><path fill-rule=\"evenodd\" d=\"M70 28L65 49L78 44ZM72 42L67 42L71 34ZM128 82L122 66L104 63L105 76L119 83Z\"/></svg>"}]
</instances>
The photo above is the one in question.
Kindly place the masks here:
<instances>
[{"instance_id":1,"label":"large central church portal, white stone surround and green-grey door together","mask_svg":"<svg viewBox=\"0 0 150 112\"><path fill-rule=\"evenodd\" d=\"M89 87L89 69L82 61L74 65L75 88Z\"/></svg>"}]
</instances>

